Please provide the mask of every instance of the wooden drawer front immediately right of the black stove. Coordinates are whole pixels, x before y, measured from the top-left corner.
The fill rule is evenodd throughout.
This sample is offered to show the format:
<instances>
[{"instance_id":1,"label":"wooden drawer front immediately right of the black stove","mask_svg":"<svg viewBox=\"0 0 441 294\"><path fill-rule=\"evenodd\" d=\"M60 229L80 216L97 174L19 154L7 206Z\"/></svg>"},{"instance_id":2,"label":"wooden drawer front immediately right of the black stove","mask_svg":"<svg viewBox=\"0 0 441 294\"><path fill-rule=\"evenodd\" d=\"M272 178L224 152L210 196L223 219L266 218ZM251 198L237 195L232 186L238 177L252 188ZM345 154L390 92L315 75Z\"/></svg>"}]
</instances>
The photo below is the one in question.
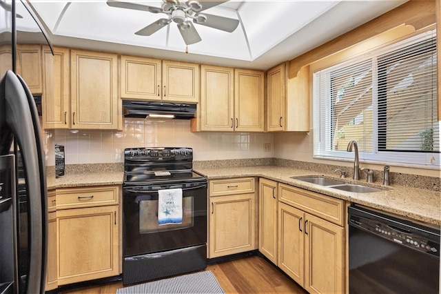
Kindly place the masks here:
<instances>
[{"instance_id":1,"label":"wooden drawer front immediately right of the black stove","mask_svg":"<svg viewBox=\"0 0 441 294\"><path fill-rule=\"evenodd\" d=\"M237 179L214 179L209 181L209 195L223 196L243 193L254 193L254 177Z\"/></svg>"}]
</instances>

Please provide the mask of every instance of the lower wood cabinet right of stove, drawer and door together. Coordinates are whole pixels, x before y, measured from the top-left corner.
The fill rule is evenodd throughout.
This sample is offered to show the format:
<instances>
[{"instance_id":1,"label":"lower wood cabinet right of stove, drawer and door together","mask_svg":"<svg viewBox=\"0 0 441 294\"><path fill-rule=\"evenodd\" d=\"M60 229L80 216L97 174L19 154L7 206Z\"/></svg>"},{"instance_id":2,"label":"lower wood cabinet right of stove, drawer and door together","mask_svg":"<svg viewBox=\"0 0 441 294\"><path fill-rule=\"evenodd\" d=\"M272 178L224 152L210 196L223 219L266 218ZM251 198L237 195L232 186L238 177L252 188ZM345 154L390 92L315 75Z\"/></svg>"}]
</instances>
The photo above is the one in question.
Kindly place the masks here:
<instances>
[{"instance_id":1,"label":"lower wood cabinet right of stove, drawer and door together","mask_svg":"<svg viewBox=\"0 0 441 294\"><path fill-rule=\"evenodd\" d=\"M210 181L209 258L257 248L254 182L252 177ZM217 193L212 187L219 187Z\"/></svg>"}]
</instances>

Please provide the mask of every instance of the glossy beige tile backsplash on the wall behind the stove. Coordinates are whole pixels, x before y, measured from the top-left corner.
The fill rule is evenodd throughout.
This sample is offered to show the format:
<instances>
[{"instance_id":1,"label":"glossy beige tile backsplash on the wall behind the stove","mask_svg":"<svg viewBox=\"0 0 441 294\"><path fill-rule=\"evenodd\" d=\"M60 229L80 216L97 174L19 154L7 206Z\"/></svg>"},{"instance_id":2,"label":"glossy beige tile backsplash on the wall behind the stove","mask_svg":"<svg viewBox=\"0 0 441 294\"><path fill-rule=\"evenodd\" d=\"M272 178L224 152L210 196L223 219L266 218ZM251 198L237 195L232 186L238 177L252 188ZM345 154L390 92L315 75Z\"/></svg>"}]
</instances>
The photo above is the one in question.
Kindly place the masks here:
<instances>
[{"instance_id":1,"label":"glossy beige tile backsplash on the wall behind the stove","mask_svg":"<svg viewBox=\"0 0 441 294\"><path fill-rule=\"evenodd\" d=\"M65 146L66 164L123 162L125 148L161 146L193 148L198 161L274 157L272 133L192 133L190 121L181 119L124 119L123 124L122 131L54 130L54 144Z\"/></svg>"}]
</instances>

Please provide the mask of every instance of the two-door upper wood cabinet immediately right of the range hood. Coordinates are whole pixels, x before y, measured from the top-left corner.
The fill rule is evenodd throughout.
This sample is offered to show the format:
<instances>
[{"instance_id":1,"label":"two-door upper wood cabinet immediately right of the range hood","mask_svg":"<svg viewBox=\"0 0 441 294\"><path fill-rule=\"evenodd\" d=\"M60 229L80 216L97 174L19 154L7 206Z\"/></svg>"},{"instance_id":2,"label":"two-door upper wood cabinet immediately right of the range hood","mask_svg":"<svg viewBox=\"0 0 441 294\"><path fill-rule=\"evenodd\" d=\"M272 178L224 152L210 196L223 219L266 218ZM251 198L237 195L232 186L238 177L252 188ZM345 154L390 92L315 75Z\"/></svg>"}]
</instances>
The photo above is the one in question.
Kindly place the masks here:
<instances>
[{"instance_id":1,"label":"two-door upper wood cabinet immediately right of the range hood","mask_svg":"<svg viewBox=\"0 0 441 294\"><path fill-rule=\"evenodd\" d=\"M201 103L192 131L263 131L263 72L201 66Z\"/></svg>"}]
</instances>

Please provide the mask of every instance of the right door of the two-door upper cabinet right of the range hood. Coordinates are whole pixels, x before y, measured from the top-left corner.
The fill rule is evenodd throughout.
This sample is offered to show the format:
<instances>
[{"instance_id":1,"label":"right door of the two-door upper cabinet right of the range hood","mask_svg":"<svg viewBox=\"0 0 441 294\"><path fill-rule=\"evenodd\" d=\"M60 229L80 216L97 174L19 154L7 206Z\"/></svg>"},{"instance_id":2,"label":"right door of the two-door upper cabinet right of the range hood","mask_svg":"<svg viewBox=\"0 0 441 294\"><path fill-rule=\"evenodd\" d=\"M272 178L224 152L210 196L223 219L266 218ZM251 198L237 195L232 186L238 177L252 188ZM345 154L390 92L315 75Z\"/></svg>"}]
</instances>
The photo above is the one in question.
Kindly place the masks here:
<instances>
[{"instance_id":1,"label":"right door of the two-door upper cabinet right of the range hood","mask_svg":"<svg viewBox=\"0 0 441 294\"><path fill-rule=\"evenodd\" d=\"M264 77L255 70L234 70L234 130L263 132Z\"/></svg>"}]
</instances>

